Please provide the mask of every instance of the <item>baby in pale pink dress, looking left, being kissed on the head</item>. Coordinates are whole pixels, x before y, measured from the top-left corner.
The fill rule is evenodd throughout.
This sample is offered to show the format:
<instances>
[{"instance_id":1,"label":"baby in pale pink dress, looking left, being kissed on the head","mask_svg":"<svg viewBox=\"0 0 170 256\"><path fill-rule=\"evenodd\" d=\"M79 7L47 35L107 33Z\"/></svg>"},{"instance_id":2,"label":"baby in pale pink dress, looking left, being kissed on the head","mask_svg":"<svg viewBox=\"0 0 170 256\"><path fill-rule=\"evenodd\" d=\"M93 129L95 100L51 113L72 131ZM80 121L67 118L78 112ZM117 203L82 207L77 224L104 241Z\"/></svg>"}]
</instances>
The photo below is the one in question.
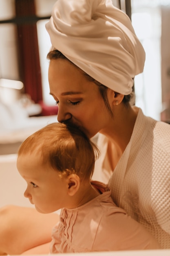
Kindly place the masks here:
<instances>
[{"instance_id":1,"label":"baby in pale pink dress, looking left, being kissed on the head","mask_svg":"<svg viewBox=\"0 0 170 256\"><path fill-rule=\"evenodd\" d=\"M118 208L108 186L91 181L99 151L76 126L49 124L18 150L24 196L40 213L61 209L50 253L159 249L144 227Z\"/></svg>"}]
</instances>

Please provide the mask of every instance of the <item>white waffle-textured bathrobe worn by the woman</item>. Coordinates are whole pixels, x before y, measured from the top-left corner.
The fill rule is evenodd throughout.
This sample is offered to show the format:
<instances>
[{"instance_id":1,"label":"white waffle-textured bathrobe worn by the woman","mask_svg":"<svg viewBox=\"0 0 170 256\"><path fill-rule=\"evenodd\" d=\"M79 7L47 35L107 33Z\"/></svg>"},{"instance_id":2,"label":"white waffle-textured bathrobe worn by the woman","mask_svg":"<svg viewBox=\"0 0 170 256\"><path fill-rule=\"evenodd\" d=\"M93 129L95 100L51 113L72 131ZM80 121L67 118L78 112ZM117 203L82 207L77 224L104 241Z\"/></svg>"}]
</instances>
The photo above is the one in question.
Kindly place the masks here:
<instances>
[{"instance_id":1,"label":"white waffle-textured bathrobe worn by the woman","mask_svg":"<svg viewBox=\"0 0 170 256\"><path fill-rule=\"evenodd\" d=\"M114 171L103 135L99 148L94 179L107 182L111 175L109 186L117 206L144 225L162 248L170 248L170 125L139 109L130 142Z\"/></svg>"}]
</instances>

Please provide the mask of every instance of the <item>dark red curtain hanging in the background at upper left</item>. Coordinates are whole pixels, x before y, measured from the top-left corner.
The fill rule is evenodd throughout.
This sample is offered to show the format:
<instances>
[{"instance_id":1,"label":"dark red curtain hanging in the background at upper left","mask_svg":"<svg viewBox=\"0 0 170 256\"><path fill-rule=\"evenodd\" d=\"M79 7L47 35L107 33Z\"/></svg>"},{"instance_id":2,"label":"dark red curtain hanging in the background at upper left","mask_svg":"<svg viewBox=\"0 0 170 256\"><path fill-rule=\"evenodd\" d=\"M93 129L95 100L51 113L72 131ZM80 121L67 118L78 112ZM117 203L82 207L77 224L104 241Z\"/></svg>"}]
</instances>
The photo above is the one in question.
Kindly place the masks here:
<instances>
[{"instance_id":1,"label":"dark red curtain hanging in the background at upper left","mask_svg":"<svg viewBox=\"0 0 170 256\"><path fill-rule=\"evenodd\" d=\"M24 92L37 103L42 100L42 81L37 27L35 22L29 21L30 16L35 16L34 0L15 0L15 11L20 18L17 24L20 77Z\"/></svg>"}]
</instances>

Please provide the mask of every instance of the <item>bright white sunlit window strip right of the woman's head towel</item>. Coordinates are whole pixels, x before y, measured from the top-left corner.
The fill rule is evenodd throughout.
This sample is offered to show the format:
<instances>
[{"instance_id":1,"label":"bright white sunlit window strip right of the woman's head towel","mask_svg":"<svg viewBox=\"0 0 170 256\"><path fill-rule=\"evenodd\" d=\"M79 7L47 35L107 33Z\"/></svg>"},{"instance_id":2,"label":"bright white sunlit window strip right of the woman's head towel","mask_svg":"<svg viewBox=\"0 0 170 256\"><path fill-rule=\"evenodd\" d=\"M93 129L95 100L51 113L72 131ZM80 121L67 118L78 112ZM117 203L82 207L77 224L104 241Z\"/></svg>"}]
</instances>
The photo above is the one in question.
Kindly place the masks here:
<instances>
[{"instance_id":1,"label":"bright white sunlit window strip right of the woman's head towel","mask_svg":"<svg viewBox=\"0 0 170 256\"><path fill-rule=\"evenodd\" d=\"M144 72L135 77L136 106L145 115L160 120L161 103L161 15L159 9L132 13L132 25L145 52Z\"/></svg>"}]
</instances>

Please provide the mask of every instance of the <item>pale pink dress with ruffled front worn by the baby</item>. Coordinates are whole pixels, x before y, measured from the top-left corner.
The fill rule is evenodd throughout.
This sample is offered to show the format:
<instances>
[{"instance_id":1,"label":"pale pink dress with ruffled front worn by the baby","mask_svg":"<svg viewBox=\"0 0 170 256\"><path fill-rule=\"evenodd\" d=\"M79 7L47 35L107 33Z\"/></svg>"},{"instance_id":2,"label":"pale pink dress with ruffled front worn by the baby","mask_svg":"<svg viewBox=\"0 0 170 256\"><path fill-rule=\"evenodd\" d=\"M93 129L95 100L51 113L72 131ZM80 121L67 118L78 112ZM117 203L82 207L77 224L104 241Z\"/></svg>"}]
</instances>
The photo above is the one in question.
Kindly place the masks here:
<instances>
[{"instance_id":1,"label":"pale pink dress with ruffled front worn by the baby","mask_svg":"<svg viewBox=\"0 0 170 256\"><path fill-rule=\"evenodd\" d=\"M75 209L61 210L50 253L160 248L144 227L114 204L104 184L92 184L101 195Z\"/></svg>"}]
</instances>

